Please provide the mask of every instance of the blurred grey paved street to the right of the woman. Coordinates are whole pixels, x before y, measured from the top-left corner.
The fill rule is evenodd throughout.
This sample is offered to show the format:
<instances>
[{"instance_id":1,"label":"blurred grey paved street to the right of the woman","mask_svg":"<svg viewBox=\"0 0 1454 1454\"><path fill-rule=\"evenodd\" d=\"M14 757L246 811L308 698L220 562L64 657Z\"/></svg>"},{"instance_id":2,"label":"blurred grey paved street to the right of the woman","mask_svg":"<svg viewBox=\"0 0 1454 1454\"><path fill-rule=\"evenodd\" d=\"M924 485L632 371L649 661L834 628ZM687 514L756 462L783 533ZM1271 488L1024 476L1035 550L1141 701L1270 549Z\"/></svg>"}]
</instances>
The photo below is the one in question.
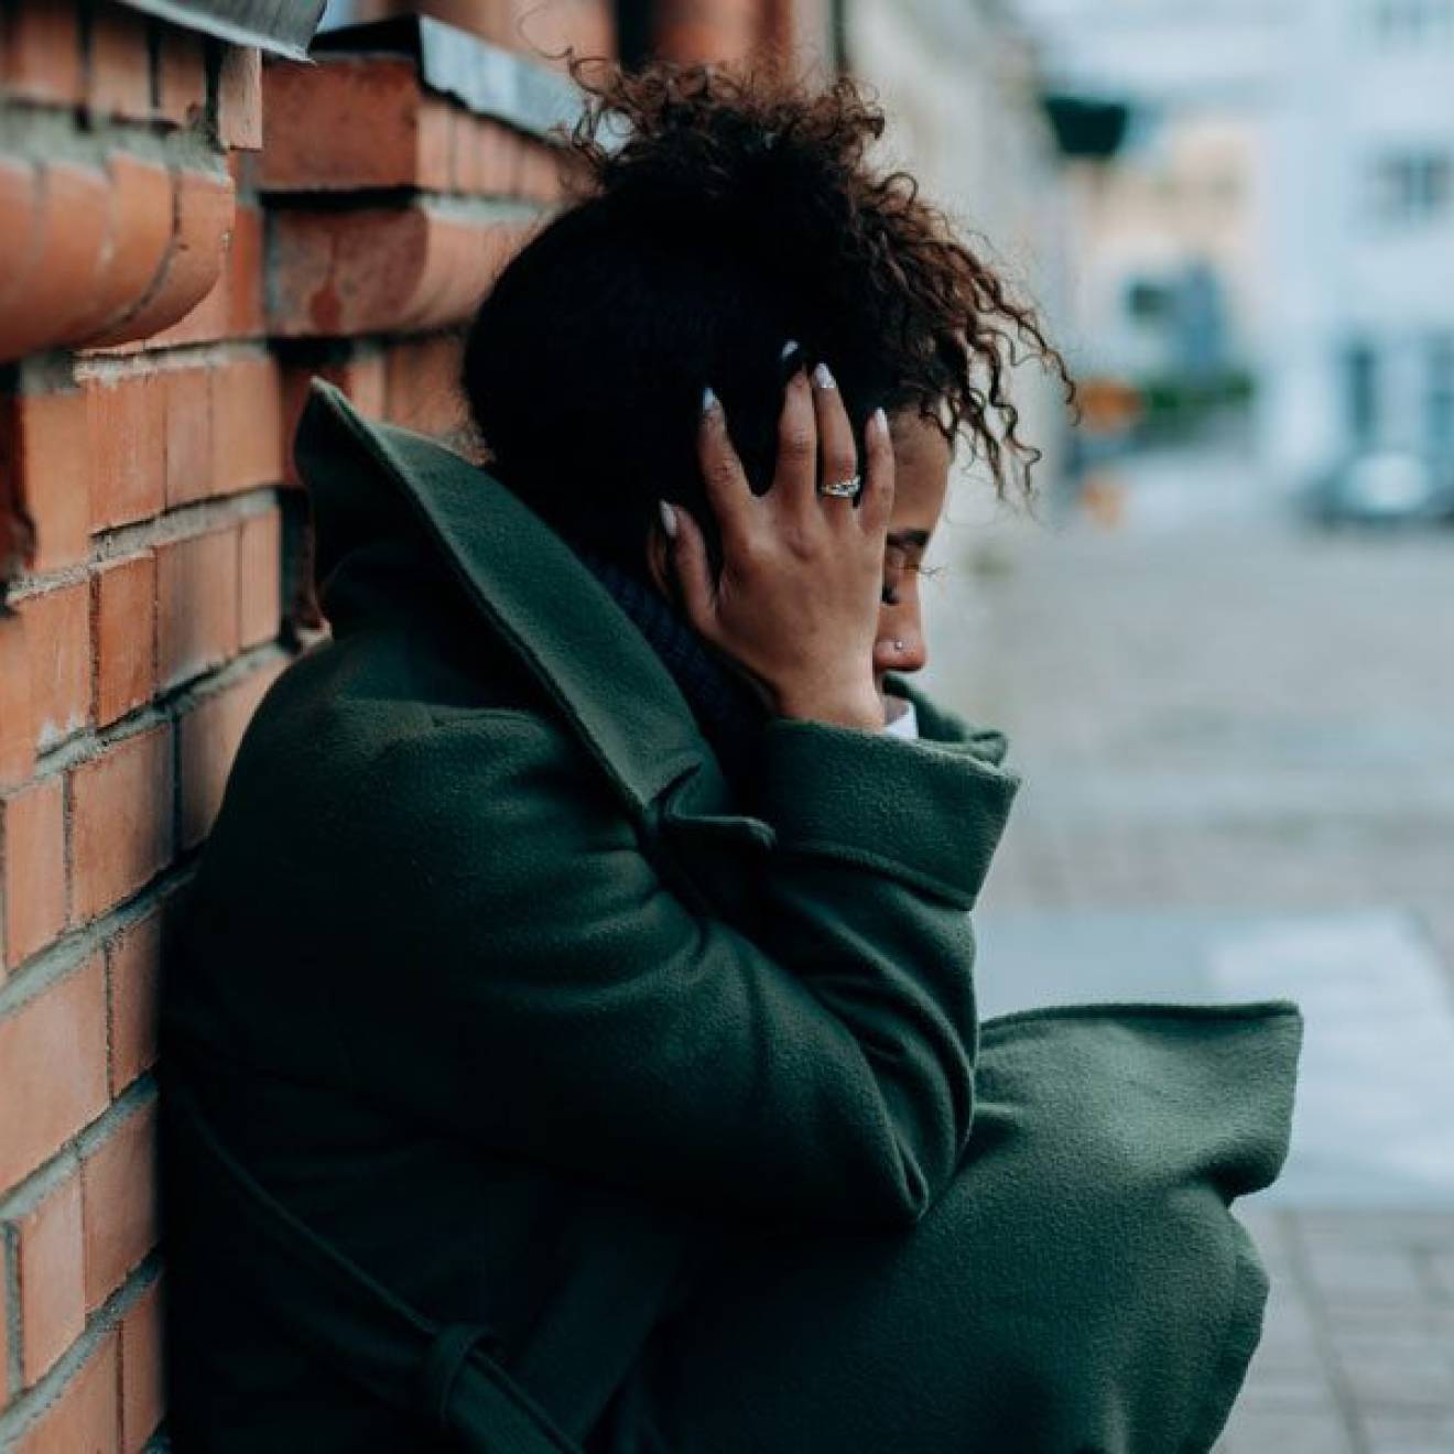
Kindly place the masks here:
<instances>
[{"instance_id":1,"label":"blurred grey paved street to the right of the woman","mask_svg":"<svg viewBox=\"0 0 1454 1454\"><path fill-rule=\"evenodd\" d=\"M1025 778L984 1013L1298 1000L1293 1153L1242 1204L1266 1336L1220 1450L1454 1450L1454 531L1319 531L1233 451L1117 477L1114 526L951 503L925 586L926 685Z\"/></svg>"}]
</instances>

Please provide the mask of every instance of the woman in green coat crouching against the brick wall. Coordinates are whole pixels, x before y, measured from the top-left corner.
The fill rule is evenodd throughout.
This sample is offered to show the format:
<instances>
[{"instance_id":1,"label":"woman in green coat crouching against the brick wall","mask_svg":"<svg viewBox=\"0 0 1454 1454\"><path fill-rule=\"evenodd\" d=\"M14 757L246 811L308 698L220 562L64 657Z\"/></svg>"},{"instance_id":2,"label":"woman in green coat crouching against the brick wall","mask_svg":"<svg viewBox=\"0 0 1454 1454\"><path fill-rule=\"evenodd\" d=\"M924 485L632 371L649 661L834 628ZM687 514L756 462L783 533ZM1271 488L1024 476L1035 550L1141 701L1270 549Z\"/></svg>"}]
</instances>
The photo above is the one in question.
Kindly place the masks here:
<instances>
[{"instance_id":1,"label":"woman in green coat crouching against the brick wall","mask_svg":"<svg viewBox=\"0 0 1454 1454\"><path fill-rule=\"evenodd\" d=\"M490 473L300 425L333 638L164 989L176 1447L1205 1450L1296 1012L979 1025L1016 778L906 680L951 442L1021 475L1059 361L848 83L592 87Z\"/></svg>"}]
</instances>

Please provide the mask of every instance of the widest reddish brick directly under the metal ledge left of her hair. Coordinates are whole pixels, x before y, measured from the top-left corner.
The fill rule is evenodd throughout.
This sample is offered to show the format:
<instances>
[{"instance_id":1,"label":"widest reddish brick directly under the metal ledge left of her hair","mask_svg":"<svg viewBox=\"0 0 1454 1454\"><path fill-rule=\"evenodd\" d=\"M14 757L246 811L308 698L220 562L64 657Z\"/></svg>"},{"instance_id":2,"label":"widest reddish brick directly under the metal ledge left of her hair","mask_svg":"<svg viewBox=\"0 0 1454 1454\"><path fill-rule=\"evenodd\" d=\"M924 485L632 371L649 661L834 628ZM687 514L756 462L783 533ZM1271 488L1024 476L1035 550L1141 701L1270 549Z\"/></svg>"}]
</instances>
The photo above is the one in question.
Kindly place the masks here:
<instances>
[{"instance_id":1,"label":"widest reddish brick directly under the metal ledge left of her hair","mask_svg":"<svg viewBox=\"0 0 1454 1454\"><path fill-rule=\"evenodd\" d=\"M420 112L414 63L400 57L339 57L318 65L288 61L263 73L268 145L263 190L352 192L420 183ZM430 144L439 147L438 119Z\"/></svg>"}]
</instances>

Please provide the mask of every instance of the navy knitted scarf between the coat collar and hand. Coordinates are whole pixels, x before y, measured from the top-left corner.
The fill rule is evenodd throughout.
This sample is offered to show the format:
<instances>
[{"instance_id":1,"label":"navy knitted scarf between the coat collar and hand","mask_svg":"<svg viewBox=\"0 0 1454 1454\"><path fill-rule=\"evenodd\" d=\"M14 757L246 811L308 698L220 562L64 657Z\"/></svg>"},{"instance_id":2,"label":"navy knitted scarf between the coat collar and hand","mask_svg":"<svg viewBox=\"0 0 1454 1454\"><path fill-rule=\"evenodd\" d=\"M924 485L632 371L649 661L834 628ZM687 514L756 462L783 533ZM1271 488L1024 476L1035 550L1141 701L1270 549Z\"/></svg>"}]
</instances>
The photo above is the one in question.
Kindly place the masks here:
<instances>
[{"instance_id":1,"label":"navy knitted scarf between the coat collar and hand","mask_svg":"<svg viewBox=\"0 0 1454 1454\"><path fill-rule=\"evenodd\" d=\"M648 580L583 541L571 537L569 544L662 659L723 772L737 794L750 803L768 708Z\"/></svg>"}]
</instances>

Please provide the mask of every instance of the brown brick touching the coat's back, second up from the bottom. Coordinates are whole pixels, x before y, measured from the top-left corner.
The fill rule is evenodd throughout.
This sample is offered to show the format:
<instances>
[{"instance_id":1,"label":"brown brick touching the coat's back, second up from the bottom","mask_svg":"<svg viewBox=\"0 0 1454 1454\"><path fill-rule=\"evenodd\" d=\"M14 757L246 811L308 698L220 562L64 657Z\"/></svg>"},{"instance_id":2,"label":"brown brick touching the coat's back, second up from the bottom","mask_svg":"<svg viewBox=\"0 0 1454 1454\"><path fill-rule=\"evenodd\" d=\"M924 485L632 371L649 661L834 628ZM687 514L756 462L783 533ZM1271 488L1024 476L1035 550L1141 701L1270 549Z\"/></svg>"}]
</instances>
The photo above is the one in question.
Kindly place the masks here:
<instances>
[{"instance_id":1,"label":"brown brick touching the coat's back, second up from the bottom","mask_svg":"<svg viewBox=\"0 0 1454 1454\"><path fill-rule=\"evenodd\" d=\"M81 1162L86 1309L95 1312L157 1245L156 1102Z\"/></svg>"}]
</instances>

